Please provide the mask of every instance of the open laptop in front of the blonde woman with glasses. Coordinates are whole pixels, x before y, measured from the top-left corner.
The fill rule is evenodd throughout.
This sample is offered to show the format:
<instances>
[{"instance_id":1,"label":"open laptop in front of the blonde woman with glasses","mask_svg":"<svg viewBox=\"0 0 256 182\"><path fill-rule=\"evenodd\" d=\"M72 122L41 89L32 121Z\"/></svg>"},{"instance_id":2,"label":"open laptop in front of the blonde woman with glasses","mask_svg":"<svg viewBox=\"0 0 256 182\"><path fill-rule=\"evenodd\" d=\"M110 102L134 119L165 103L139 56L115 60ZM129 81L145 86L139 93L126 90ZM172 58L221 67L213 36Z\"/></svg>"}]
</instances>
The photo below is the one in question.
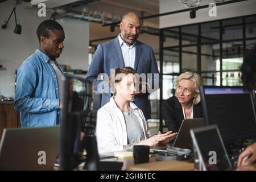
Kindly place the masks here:
<instances>
[{"instance_id":1,"label":"open laptop in front of the blonde woman with glasses","mask_svg":"<svg viewBox=\"0 0 256 182\"><path fill-rule=\"evenodd\" d=\"M205 126L204 118L184 119L172 147L190 148L190 130L201 126Z\"/></svg>"}]
</instances>

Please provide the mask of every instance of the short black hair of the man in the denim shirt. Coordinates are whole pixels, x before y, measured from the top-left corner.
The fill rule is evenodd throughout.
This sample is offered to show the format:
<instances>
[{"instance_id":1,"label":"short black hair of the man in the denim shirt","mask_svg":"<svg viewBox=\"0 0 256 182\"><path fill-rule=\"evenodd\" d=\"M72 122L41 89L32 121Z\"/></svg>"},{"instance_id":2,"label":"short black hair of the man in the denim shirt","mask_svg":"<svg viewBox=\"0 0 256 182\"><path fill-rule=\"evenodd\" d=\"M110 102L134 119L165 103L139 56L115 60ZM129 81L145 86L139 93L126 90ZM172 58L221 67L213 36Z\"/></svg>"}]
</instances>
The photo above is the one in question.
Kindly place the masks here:
<instances>
[{"instance_id":1,"label":"short black hair of the man in the denim shirt","mask_svg":"<svg viewBox=\"0 0 256 182\"><path fill-rule=\"evenodd\" d=\"M36 30L39 43L40 43L40 36L45 36L46 38L49 38L50 33L53 30L63 30L63 27L60 25L60 23L51 19L44 20L42 23L40 23L38 26L38 30Z\"/></svg>"}]
</instances>

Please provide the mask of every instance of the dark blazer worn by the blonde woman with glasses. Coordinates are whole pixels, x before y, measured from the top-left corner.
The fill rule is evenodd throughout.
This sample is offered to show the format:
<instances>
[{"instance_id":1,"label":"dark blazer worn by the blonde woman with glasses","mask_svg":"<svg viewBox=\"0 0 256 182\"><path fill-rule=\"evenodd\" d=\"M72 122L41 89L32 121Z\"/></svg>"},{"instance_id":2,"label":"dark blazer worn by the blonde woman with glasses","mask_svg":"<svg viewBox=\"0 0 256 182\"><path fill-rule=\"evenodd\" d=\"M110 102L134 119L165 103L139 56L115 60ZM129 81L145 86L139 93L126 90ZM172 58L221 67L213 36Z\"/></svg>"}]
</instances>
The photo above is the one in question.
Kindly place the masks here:
<instances>
[{"instance_id":1,"label":"dark blazer worn by the blonde woman with glasses","mask_svg":"<svg viewBox=\"0 0 256 182\"><path fill-rule=\"evenodd\" d=\"M168 100L163 101L162 116L168 130L172 130L174 132L179 131L184 115L182 106L176 96L172 96L168 98ZM203 117L203 111L201 102L199 102L199 104L193 106L193 118L201 117Z\"/></svg>"}]
</instances>

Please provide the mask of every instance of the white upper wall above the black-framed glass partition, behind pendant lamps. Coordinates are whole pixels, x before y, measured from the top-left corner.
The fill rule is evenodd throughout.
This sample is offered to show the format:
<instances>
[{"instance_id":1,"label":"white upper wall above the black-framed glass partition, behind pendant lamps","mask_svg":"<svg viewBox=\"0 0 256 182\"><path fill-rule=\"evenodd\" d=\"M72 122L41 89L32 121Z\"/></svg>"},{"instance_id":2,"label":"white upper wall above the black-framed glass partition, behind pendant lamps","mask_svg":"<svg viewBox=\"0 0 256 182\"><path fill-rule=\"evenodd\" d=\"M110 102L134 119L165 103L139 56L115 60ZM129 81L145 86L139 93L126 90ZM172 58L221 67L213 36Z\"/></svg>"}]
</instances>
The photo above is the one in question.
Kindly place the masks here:
<instances>
[{"instance_id":1,"label":"white upper wall above the black-framed glass partition, behind pendant lamps","mask_svg":"<svg viewBox=\"0 0 256 182\"><path fill-rule=\"evenodd\" d=\"M200 5L209 5L212 0L201 1ZM159 13L167 13L170 11L177 11L188 9L183 3L177 0L160 0L159 1ZM232 3L228 5L217 6L217 16L210 17L208 15L209 9L201 9L196 11L196 18L189 18L189 11L184 13L178 13L167 16L160 16L159 28L175 27L184 24L192 24L199 22L209 22L217 19L232 18L236 16L244 16L250 14L256 14L256 1L249 0L243 2Z\"/></svg>"}]
</instances>

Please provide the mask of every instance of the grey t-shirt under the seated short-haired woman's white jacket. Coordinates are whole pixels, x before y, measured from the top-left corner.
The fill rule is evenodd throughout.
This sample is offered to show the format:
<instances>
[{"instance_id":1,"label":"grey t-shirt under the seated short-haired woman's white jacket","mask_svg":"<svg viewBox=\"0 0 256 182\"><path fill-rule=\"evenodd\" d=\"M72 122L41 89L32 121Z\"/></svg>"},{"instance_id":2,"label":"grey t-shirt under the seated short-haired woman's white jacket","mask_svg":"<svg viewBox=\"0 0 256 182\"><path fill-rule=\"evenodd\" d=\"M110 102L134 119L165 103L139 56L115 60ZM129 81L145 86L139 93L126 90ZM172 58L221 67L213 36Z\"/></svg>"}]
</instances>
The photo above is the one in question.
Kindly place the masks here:
<instances>
[{"instance_id":1,"label":"grey t-shirt under the seated short-haired woman's white jacket","mask_svg":"<svg viewBox=\"0 0 256 182\"><path fill-rule=\"evenodd\" d=\"M128 144L140 141L144 134L134 110L131 109L129 112L123 112L123 116L125 117Z\"/></svg>"}]
</instances>

